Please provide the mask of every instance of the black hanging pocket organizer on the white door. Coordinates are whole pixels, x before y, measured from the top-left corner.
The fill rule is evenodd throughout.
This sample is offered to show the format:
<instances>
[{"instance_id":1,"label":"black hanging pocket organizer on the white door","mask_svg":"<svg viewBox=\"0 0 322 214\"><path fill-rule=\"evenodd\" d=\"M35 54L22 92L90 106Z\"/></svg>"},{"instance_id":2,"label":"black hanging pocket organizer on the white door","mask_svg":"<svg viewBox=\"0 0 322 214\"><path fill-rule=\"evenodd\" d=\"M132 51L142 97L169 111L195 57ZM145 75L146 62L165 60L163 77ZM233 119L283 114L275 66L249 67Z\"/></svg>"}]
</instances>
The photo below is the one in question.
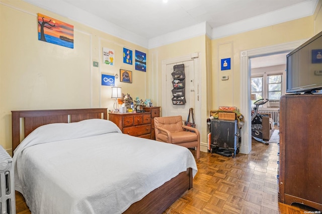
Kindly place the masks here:
<instances>
[{"instance_id":1,"label":"black hanging pocket organizer on the white door","mask_svg":"<svg viewBox=\"0 0 322 214\"><path fill-rule=\"evenodd\" d=\"M172 103L174 105L184 105L186 104L185 98L185 65L175 65L173 66L174 71L171 73L173 81L172 89Z\"/></svg>"}]
</instances>

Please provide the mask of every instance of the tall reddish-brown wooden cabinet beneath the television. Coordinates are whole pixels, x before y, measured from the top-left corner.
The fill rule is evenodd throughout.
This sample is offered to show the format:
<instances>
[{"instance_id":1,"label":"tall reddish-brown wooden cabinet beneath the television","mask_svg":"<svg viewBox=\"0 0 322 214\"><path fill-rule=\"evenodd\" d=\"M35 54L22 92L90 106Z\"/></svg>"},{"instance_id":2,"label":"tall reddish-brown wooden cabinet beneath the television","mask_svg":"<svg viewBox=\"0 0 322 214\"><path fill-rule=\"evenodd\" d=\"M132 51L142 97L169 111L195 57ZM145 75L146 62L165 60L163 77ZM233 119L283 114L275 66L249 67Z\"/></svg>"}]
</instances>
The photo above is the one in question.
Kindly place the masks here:
<instances>
[{"instance_id":1,"label":"tall reddish-brown wooden cabinet beneath the television","mask_svg":"<svg viewBox=\"0 0 322 214\"><path fill-rule=\"evenodd\" d=\"M322 210L322 94L280 101L279 201Z\"/></svg>"}]
</instances>

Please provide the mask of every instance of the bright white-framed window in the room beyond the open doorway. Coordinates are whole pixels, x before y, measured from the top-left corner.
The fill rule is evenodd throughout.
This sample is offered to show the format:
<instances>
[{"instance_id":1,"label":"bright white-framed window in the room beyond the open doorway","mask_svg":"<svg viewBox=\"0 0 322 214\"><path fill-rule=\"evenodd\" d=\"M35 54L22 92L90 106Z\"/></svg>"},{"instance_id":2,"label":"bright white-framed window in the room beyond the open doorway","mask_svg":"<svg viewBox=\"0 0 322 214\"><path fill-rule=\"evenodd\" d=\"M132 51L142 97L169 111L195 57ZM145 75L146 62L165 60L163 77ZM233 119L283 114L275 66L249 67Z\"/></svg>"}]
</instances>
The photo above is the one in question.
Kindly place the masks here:
<instances>
[{"instance_id":1,"label":"bright white-framed window in the room beyond the open doorway","mask_svg":"<svg viewBox=\"0 0 322 214\"><path fill-rule=\"evenodd\" d=\"M265 81L264 81L265 80ZM283 74L269 74L251 77L252 108L258 99L269 99L269 102L261 107L279 106L280 97L283 94ZM255 97L254 97L255 96Z\"/></svg>"}]
</instances>

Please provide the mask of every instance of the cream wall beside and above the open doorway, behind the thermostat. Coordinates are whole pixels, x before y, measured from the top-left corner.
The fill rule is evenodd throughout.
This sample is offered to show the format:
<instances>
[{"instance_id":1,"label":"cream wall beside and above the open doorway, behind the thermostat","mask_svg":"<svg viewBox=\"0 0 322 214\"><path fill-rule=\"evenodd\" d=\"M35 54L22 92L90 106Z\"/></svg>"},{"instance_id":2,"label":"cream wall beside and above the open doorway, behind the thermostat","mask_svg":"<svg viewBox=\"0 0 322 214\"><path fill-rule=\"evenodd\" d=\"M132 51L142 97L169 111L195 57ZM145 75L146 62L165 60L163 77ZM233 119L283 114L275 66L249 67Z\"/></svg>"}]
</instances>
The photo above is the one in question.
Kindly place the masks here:
<instances>
[{"instance_id":1,"label":"cream wall beside and above the open doorway, behind the thermostat","mask_svg":"<svg viewBox=\"0 0 322 214\"><path fill-rule=\"evenodd\" d=\"M221 39L213 40L213 108L220 105L233 105L240 108L240 53L241 51L308 39L313 36L312 16L261 28ZM231 58L231 69L220 70L220 59ZM220 77L228 75L222 81ZM240 95L242 94L242 95ZM247 95L247 94L245 94ZM241 112L242 113L242 112ZM242 113L243 114L243 113Z\"/></svg>"}]
</instances>

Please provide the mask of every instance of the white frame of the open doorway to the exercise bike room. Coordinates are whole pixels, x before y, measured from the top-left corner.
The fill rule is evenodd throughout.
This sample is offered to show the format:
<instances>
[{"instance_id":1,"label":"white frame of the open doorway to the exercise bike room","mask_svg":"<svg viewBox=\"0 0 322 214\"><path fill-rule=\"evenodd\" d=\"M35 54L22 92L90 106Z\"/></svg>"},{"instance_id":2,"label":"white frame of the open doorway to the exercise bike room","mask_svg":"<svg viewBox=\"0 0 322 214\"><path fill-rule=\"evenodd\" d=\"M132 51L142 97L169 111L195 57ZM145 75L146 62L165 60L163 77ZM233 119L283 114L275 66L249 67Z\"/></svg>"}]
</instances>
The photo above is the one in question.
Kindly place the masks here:
<instances>
[{"instance_id":1,"label":"white frame of the open doorway to the exercise bike room","mask_svg":"<svg viewBox=\"0 0 322 214\"><path fill-rule=\"evenodd\" d=\"M250 58L257 56L271 55L275 53L282 53L286 51L292 51L301 44L303 44L307 39L298 40L294 42L288 42L284 44L278 44L268 47L256 48L251 50L245 50L240 52L240 97L241 98L241 112L245 117L245 124L242 129L241 137L243 139L240 146L240 153L249 154L252 151L252 132L251 132L251 66ZM245 95L246 92L246 95ZM245 143L244 143L245 142Z\"/></svg>"}]
</instances>

